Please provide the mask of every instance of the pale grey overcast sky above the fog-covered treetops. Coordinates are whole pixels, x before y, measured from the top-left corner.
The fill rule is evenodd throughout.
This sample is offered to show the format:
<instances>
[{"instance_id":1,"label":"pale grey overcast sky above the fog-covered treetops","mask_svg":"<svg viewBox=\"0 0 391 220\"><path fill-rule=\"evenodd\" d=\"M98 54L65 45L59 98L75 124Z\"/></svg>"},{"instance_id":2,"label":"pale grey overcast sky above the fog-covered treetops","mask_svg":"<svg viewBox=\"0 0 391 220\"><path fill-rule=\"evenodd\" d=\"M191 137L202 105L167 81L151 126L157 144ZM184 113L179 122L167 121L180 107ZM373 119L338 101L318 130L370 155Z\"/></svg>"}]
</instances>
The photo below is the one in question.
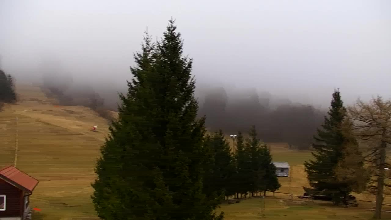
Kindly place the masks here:
<instances>
[{"instance_id":1,"label":"pale grey overcast sky above the fog-covered treetops","mask_svg":"<svg viewBox=\"0 0 391 220\"><path fill-rule=\"evenodd\" d=\"M198 82L329 103L391 96L390 0L0 0L2 69L36 72L44 57L75 79L124 86L143 31L170 17Z\"/></svg>"}]
</instances>

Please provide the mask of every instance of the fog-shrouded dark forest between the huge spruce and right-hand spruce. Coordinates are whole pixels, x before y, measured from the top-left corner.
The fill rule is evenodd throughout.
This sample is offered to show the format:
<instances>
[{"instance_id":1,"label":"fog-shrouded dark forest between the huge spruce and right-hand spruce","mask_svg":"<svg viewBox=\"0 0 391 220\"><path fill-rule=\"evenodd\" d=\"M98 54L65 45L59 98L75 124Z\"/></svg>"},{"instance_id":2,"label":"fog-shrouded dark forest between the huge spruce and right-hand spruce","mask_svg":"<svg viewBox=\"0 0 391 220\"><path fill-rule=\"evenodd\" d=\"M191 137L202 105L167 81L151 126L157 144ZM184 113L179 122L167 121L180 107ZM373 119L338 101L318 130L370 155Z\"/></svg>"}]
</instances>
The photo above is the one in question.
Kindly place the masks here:
<instances>
[{"instance_id":1,"label":"fog-shrouded dark forest between the huge spruce and right-hand spruce","mask_svg":"<svg viewBox=\"0 0 391 220\"><path fill-rule=\"evenodd\" d=\"M255 89L229 97L223 87L204 92L199 117L206 115L208 130L223 129L234 133L256 125L265 142L288 142L290 146L309 150L312 136L323 121L325 113L312 105L280 100L273 103L267 92L260 95Z\"/></svg>"}]
</instances>

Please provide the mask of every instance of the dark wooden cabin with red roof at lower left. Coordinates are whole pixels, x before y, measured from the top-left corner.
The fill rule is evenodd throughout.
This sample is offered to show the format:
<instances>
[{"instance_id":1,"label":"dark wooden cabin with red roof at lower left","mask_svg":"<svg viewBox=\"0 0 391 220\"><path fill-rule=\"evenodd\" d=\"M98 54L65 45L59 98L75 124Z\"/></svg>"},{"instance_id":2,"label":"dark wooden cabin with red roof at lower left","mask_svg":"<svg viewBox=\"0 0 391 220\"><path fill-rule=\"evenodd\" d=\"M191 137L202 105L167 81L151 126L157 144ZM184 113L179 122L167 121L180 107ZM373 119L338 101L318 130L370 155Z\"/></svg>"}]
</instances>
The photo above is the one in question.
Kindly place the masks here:
<instances>
[{"instance_id":1,"label":"dark wooden cabin with red roof at lower left","mask_svg":"<svg viewBox=\"0 0 391 220\"><path fill-rule=\"evenodd\" d=\"M14 166L0 170L0 220L31 219L30 195L38 180Z\"/></svg>"}]
</instances>

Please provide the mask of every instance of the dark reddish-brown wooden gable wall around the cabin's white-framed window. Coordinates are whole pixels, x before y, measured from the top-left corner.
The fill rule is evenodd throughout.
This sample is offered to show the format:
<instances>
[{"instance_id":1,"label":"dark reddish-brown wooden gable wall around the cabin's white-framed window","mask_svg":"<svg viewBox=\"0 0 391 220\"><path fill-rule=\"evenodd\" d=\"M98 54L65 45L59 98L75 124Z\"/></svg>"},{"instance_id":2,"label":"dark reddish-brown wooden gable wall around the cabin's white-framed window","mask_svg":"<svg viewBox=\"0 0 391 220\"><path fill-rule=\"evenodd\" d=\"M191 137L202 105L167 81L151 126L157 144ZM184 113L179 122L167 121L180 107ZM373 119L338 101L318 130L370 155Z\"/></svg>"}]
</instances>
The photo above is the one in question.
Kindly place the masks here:
<instances>
[{"instance_id":1,"label":"dark reddish-brown wooden gable wall around the cabin's white-framed window","mask_svg":"<svg viewBox=\"0 0 391 220\"><path fill-rule=\"evenodd\" d=\"M1 217L20 216L23 194L22 190L0 179L0 195L7 196L5 211L0 211Z\"/></svg>"}]
</instances>

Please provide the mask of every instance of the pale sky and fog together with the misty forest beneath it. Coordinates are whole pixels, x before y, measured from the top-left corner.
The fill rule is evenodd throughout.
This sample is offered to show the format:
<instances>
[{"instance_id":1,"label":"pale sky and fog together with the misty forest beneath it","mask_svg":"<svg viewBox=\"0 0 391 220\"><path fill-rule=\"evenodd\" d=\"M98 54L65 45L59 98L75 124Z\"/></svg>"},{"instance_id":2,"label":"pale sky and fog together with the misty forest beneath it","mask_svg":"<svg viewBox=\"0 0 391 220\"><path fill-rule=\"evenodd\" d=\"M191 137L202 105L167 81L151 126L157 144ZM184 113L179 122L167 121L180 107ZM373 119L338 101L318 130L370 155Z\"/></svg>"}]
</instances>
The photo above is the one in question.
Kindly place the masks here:
<instances>
[{"instance_id":1,"label":"pale sky and fog together with the misty forest beneath it","mask_svg":"<svg viewBox=\"0 0 391 220\"><path fill-rule=\"evenodd\" d=\"M173 16L209 129L256 124L265 140L307 146L335 88L348 105L391 97L390 9L388 0L0 0L0 65L19 83L56 88L63 103L116 110L143 32L159 40Z\"/></svg>"}]
</instances>

